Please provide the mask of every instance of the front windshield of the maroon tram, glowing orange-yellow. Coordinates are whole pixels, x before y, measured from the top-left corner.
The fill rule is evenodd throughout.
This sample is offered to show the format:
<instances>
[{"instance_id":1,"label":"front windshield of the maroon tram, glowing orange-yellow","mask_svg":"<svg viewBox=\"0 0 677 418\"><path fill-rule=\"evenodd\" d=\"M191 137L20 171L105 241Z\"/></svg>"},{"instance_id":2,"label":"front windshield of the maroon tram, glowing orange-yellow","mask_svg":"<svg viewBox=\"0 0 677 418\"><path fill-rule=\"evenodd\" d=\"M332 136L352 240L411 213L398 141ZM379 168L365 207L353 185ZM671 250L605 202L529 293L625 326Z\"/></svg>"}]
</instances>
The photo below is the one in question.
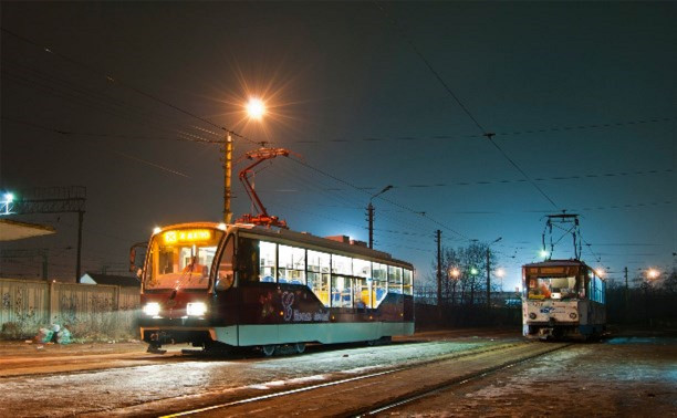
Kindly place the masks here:
<instances>
[{"instance_id":1,"label":"front windshield of the maroon tram, glowing orange-yellow","mask_svg":"<svg viewBox=\"0 0 677 418\"><path fill-rule=\"evenodd\" d=\"M153 237L144 280L146 290L207 290L223 231L168 230Z\"/></svg>"}]
</instances>

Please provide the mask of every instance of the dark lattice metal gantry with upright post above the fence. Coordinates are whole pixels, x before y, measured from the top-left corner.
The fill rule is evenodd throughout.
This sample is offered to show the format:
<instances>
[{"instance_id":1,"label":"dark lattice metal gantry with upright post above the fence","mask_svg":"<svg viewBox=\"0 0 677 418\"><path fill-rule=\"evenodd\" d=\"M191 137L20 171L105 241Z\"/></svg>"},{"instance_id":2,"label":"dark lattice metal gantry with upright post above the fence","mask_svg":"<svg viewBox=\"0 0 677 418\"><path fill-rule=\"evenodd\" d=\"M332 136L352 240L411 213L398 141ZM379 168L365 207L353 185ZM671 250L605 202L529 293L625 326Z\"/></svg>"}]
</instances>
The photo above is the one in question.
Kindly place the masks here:
<instances>
[{"instance_id":1,"label":"dark lattice metal gantry with upright post above the fence","mask_svg":"<svg viewBox=\"0 0 677 418\"><path fill-rule=\"evenodd\" d=\"M13 201L14 215L30 213L77 213L77 260L75 281L80 282L82 260L82 223L84 221L87 189L83 186L34 188L22 192Z\"/></svg>"}]
</instances>

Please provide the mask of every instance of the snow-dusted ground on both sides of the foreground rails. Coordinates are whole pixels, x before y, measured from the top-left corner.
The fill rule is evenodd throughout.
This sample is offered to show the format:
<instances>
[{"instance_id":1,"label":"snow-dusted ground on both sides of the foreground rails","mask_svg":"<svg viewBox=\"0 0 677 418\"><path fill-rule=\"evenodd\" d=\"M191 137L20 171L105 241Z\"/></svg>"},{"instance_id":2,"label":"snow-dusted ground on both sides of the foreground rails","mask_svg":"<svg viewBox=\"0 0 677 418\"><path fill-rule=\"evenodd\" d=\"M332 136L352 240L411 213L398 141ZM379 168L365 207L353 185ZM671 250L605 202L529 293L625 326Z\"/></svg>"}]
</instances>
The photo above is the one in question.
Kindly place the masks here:
<instances>
[{"instance_id":1,"label":"snow-dusted ground on both sides of the foreground rails","mask_svg":"<svg viewBox=\"0 0 677 418\"><path fill-rule=\"evenodd\" d=\"M517 331L464 330L417 334L387 346L310 347L301 356L201 358L181 356L185 346L157 356L146 354L140 343L41 348L2 343L0 416L156 416L514 344L521 344ZM402 385L384 378L382 389ZM552 353L383 414L675 416L676 387L676 338L616 337Z\"/></svg>"}]
</instances>

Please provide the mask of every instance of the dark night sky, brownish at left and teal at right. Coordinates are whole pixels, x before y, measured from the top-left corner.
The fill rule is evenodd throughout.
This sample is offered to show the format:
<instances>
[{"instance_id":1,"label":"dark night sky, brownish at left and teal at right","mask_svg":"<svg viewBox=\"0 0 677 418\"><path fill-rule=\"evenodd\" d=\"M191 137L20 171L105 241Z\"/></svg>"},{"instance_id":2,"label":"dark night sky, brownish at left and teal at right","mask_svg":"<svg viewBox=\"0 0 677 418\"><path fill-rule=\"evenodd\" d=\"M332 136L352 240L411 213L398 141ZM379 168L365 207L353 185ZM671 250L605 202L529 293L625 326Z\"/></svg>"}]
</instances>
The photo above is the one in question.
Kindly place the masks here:
<instances>
[{"instance_id":1,"label":"dark night sky, brownish at left and teal at right","mask_svg":"<svg viewBox=\"0 0 677 418\"><path fill-rule=\"evenodd\" d=\"M581 215L583 259L612 279L674 265L674 2L2 2L1 13L0 190L85 186L83 271L126 270L156 226L222 219L221 145L204 142L222 140L219 127L247 137L236 158L263 140L301 156L256 175L293 230L366 241L369 197L393 185L373 200L375 248L412 261L419 281L434 275L440 229L445 247L502 237L492 249L513 289L538 261L543 217L564 209ZM268 103L260 123L243 112L249 96ZM242 166L236 217L250 209ZM58 234L2 249L49 248L52 275L73 280L76 215L10 219ZM554 258L571 255L565 238ZM38 260L1 262L6 276L40 274Z\"/></svg>"}]
</instances>

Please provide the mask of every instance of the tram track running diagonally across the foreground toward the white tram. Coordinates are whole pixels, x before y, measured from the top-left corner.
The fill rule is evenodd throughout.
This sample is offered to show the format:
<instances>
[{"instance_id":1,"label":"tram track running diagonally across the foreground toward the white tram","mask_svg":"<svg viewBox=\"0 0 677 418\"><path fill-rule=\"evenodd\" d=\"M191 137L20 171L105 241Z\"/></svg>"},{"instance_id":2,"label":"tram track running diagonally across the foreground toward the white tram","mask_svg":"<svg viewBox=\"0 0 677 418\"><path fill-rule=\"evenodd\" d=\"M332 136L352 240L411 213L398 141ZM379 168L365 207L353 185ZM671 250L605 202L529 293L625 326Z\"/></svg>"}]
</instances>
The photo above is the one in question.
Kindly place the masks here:
<instances>
[{"instance_id":1,"label":"tram track running diagonally across the foreground toward the white tram","mask_svg":"<svg viewBox=\"0 0 677 418\"><path fill-rule=\"evenodd\" d=\"M369 416L425 398L454 386L486 377L529 359L565 348L571 344L511 343L486 349L472 349L419 362L404 367L355 377L295 387L265 395L232 399L216 405L177 411L183 416ZM448 369L450 376L444 376ZM402 382L409 382L403 387ZM386 383L386 384L384 384ZM395 383L393 390L378 390ZM365 397L364 394L371 394ZM375 394L372 396L372 394ZM345 400L343 400L345 399ZM361 399L361 405L352 400ZM323 405L319 408L317 405ZM322 410L320 410L322 409Z\"/></svg>"}]
</instances>

